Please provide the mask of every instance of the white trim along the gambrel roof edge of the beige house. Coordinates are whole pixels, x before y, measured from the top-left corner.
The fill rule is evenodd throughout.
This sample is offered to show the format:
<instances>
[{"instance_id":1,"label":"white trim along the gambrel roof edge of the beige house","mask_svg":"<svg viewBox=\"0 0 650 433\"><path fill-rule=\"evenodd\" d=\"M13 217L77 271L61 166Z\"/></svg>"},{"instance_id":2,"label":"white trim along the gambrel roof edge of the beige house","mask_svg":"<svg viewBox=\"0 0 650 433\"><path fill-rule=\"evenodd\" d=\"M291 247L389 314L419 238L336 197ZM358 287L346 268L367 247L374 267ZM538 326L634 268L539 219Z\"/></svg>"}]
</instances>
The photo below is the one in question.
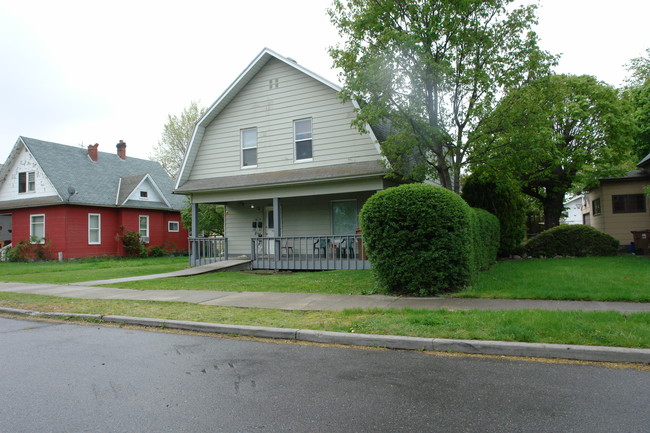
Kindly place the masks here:
<instances>
[{"instance_id":1,"label":"white trim along the gambrel roof edge of the beige house","mask_svg":"<svg viewBox=\"0 0 650 433\"><path fill-rule=\"evenodd\" d=\"M192 139L190 140L190 145L188 146L188 150L185 153L185 159L183 160L183 165L181 166L178 180L176 181L176 189L178 189L181 184L185 183L188 180L192 165L194 164L194 160L196 159L196 155L198 153L199 143L201 142L203 133L205 132L205 128L217 117L217 115L219 115L219 113L228 105L228 103L230 103L230 101L232 101L237 96L237 94L271 59L277 59L286 65L297 69L298 71L310 76L314 80L321 82L327 87L330 87L336 92L341 91L341 88L338 85L332 83L329 80L326 80L325 78L310 71L304 66L299 65L295 60L281 56L269 48L264 48L262 52L259 53L257 57L255 57L255 59L248 65L248 67L246 67L246 69L244 69L244 71L239 74L237 79L226 89L226 91L223 92L221 96L219 96L219 98L217 98L217 100L206 110L203 117L201 117L201 119L199 119L199 121L196 123L196 127L194 128L194 132L192 134ZM356 101L352 101L352 104L355 108L359 108ZM375 137L375 131L369 126L366 126L366 130L371 139L376 143L377 138Z\"/></svg>"}]
</instances>

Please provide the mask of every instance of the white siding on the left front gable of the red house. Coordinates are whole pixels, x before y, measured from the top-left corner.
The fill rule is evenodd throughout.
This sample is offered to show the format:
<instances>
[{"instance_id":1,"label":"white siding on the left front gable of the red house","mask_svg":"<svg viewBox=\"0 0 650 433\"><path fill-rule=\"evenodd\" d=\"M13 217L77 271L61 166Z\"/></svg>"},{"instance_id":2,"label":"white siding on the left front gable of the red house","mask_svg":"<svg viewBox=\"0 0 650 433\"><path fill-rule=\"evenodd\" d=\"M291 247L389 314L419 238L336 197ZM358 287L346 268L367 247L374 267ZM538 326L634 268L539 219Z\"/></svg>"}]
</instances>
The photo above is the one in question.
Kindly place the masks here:
<instances>
[{"instance_id":1,"label":"white siding on the left front gable of the red house","mask_svg":"<svg viewBox=\"0 0 650 433\"><path fill-rule=\"evenodd\" d=\"M33 192L18 192L18 173L20 172L35 173L35 188ZM13 160L13 164L7 173L4 182L0 184L0 201L21 200L39 197L50 197L58 195L54 186L43 173L41 166L34 159L24 146L21 145L18 155Z\"/></svg>"}]
</instances>

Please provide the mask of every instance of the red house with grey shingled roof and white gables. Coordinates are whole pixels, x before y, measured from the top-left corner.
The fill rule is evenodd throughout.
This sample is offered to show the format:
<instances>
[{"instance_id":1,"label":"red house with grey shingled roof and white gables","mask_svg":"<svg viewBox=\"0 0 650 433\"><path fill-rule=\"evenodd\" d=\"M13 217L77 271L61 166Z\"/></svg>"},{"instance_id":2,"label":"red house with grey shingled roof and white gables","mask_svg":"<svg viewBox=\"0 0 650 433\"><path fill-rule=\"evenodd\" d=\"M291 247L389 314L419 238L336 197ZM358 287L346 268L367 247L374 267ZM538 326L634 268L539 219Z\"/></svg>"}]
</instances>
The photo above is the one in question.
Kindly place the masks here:
<instances>
[{"instance_id":1,"label":"red house with grey shingled roof and white gables","mask_svg":"<svg viewBox=\"0 0 650 433\"><path fill-rule=\"evenodd\" d=\"M157 162L20 137L0 168L0 246L46 244L54 257L125 255L120 234L187 248L173 182Z\"/></svg>"}]
</instances>

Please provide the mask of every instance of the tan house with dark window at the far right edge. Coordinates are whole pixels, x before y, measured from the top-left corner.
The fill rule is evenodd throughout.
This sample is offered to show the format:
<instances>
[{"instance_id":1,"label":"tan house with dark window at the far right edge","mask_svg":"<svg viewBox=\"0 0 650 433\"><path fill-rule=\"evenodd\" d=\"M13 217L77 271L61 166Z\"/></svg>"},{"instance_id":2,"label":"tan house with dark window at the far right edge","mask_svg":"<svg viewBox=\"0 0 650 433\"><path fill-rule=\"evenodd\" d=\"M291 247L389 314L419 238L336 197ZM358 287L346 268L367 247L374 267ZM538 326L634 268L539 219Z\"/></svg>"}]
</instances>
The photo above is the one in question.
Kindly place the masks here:
<instances>
[{"instance_id":1,"label":"tan house with dark window at the far right edge","mask_svg":"<svg viewBox=\"0 0 650 433\"><path fill-rule=\"evenodd\" d=\"M583 221L612 235L622 246L634 241L633 231L650 230L650 209L643 187L650 185L650 154L637 170L623 177L600 179L582 208Z\"/></svg>"}]
</instances>

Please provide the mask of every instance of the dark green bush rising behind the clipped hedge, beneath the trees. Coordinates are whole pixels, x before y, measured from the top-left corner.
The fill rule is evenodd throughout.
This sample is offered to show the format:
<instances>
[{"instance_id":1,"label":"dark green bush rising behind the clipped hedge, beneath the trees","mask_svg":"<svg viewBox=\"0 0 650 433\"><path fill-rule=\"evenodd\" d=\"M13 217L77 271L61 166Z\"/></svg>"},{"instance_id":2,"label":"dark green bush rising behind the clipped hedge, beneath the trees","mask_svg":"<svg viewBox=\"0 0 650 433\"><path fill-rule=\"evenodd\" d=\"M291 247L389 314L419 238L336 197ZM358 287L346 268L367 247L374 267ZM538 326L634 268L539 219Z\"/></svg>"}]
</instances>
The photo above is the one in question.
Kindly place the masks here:
<instances>
[{"instance_id":1,"label":"dark green bush rising behind the clipped hedge, beneath the trees","mask_svg":"<svg viewBox=\"0 0 650 433\"><path fill-rule=\"evenodd\" d=\"M521 246L526 235L526 203L512 182L486 180L470 175L463 185L463 199L485 209L499 220L499 256L508 257Z\"/></svg>"}]
</instances>

